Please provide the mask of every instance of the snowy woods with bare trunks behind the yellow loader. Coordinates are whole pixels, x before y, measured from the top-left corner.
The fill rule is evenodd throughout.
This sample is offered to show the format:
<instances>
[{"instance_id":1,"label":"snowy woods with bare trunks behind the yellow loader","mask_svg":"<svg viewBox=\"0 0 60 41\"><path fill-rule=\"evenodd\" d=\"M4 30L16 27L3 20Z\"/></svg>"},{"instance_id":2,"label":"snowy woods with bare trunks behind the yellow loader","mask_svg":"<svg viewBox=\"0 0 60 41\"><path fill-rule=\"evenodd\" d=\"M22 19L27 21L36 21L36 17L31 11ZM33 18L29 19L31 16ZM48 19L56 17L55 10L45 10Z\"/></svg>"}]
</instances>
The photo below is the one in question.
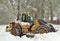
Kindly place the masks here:
<instances>
[{"instance_id":1,"label":"snowy woods with bare trunks behind the yellow loader","mask_svg":"<svg viewBox=\"0 0 60 41\"><path fill-rule=\"evenodd\" d=\"M19 14L27 12L34 19L53 22L60 19L60 0L0 0L0 24L13 21ZM19 6L18 6L19 4ZM19 8L19 11L18 11Z\"/></svg>"}]
</instances>

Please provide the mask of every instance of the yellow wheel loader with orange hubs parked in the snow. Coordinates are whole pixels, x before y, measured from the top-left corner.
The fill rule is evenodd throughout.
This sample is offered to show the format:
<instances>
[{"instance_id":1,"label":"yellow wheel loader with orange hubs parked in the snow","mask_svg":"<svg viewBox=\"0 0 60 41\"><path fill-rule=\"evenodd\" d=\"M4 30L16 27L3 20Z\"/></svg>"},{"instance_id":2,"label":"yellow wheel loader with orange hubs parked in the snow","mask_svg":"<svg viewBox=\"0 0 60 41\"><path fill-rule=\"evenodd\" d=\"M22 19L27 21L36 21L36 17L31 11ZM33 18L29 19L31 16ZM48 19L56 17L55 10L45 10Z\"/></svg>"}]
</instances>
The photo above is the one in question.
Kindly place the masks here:
<instances>
[{"instance_id":1,"label":"yellow wheel loader with orange hubs parked in the snow","mask_svg":"<svg viewBox=\"0 0 60 41\"><path fill-rule=\"evenodd\" d=\"M26 37L34 37L35 34L56 32L51 24L41 19L32 20L27 14L22 14L21 21L18 16L16 21L17 22L10 22L9 25L6 26L6 32L10 32L14 36L22 37L26 35Z\"/></svg>"}]
</instances>

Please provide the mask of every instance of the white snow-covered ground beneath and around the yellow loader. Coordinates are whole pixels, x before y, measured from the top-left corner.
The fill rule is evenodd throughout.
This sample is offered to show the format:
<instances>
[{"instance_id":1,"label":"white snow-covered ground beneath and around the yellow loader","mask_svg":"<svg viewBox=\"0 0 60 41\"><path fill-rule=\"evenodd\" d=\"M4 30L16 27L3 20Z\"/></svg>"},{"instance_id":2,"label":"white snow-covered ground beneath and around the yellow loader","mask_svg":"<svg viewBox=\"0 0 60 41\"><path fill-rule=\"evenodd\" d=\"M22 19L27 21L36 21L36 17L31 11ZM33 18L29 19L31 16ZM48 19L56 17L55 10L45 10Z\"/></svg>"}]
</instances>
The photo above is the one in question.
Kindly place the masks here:
<instances>
[{"instance_id":1,"label":"white snow-covered ground beneath and around the yellow loader","mask_svg":"<svg viewBox=\"0 0 60 41\"><path fill-rule=\"evenodd\" d=\"M59 25L53 25L60 27ZM0 41L60 41L60 29L57 32L36 34L34 38L27 38L26 36L13 36L10 32L5 32L6 25L0 25Z\"/></svg>"}]
</instances>

